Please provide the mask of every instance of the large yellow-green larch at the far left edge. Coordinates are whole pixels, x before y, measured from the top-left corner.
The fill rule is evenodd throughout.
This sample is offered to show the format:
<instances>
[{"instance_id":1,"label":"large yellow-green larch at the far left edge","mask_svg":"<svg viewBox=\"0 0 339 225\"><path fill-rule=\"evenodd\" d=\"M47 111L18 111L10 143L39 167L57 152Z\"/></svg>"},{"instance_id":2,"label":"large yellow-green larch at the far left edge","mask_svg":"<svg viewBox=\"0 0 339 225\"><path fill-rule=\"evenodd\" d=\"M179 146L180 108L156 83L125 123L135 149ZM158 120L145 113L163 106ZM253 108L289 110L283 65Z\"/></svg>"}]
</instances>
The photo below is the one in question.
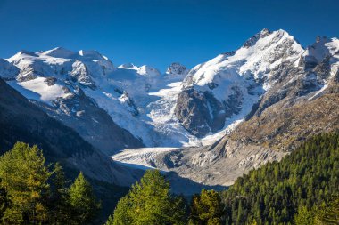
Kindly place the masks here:
<instances>
[{"instance_id":1,"label":"large yellow-green larch at the far left edge","mask_svg":"<svg viewBox=\"0 0 339 225\"><path fill-rule=\"evenodd\" d=\"M40 223L47 221L46 201L50 194L51 173L37 146L17 142L0 157L0 177L11 200L4 212L4 223Z\"/></svg>"}]
</instances>

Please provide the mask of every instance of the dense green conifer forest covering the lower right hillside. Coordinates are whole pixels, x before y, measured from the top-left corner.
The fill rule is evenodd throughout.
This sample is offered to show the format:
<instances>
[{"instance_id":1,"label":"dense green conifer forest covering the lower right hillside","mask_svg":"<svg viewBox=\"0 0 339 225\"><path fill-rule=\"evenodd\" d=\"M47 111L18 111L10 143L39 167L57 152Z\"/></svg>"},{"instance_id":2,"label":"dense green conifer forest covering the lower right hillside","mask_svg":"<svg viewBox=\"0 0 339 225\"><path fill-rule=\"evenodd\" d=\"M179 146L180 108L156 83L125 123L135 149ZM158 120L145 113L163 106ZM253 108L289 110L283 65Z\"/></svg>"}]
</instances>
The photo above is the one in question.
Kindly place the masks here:
<instances>
[{"instance_id":1,"label":"dense green conifer forest covering the lower right hillside","mask_svg":"<svg viewBox=\"0 0 339 225\"><path fill-rule=\"evenodd\" d=\"M337 193L339 133L328 133L237 179L222 198L228 224L291 224L294 215L299 224L310 224L313 207Z\"/></svg>"}]
</instances>

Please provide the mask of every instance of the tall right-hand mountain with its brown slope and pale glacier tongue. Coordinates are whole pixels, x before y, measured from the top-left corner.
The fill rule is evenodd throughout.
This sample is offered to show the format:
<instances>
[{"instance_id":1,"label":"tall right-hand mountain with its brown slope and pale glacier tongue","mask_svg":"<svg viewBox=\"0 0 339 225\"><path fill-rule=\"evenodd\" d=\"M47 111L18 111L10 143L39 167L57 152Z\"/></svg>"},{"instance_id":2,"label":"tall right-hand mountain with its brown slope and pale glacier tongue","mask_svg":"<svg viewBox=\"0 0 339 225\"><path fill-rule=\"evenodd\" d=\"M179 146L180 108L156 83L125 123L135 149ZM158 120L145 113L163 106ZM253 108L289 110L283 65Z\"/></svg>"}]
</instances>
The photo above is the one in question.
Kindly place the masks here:
<instances>
[{"instance_id":1,"label":"tall right-hand mountain with its brown slope and pale glacier tongue","mask_svg":"<svg viewBox=\"0 0 339 225\"><path fill-rule=\"evenodd\" d=\"M211 145L125 150L113 158L230 185L310 136L339 129L338 63L337 38L318 37L303 49L285 31L265 29L239 50L196 66L182 84L175 111L191 133L211 133L214 121L224 125L216 116L228 112L226 129L201 139Z\"/></svg>"}]
</instances>

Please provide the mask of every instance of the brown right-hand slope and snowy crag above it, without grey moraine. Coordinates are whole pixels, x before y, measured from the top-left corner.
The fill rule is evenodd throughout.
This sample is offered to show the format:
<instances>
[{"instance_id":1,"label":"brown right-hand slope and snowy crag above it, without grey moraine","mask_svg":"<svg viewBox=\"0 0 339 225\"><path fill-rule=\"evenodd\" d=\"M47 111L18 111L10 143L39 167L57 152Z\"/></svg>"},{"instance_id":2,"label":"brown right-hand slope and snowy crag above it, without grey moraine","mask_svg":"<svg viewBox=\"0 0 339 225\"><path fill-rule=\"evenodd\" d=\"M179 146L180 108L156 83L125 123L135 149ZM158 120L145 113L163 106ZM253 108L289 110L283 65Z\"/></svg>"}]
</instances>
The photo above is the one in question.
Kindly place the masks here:
<instances>
[{"instance_id":1,"label":"brown right-hand slope and snowy crag above it, without grey moraine","mask_svg":"<svg viewBox=\"0 0 339 225\"><path fill-rule=\"evenodd\" d=\"M339 128L339 40L318 38L288 76L293 79L266 93L232 140L291 150L310 135Z\"/></svg>"}]
</instances>

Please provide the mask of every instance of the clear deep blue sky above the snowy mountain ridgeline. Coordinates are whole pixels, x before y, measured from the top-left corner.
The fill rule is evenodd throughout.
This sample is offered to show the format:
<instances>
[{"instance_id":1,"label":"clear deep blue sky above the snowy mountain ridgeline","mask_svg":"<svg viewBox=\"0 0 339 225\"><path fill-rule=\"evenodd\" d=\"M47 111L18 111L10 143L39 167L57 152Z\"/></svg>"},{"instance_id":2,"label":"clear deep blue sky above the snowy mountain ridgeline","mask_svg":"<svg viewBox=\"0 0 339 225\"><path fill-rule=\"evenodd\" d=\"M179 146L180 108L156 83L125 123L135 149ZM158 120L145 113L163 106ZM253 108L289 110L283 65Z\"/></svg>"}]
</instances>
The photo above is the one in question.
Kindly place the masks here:
<instances>
[{"instance_id":1,"label":"clear deep blue sky above the snowy mountain ridgeline","mask_svg":"<svg viewBox=\"0 0 339 225\"><path fill-rule=\"evenodd\" d=\"M0 0L0 57L62 46L95 49L115 65L164 71L236 50L262 28L302 45L339 36L338 0Z\"/></svg>"}]
</instances>

